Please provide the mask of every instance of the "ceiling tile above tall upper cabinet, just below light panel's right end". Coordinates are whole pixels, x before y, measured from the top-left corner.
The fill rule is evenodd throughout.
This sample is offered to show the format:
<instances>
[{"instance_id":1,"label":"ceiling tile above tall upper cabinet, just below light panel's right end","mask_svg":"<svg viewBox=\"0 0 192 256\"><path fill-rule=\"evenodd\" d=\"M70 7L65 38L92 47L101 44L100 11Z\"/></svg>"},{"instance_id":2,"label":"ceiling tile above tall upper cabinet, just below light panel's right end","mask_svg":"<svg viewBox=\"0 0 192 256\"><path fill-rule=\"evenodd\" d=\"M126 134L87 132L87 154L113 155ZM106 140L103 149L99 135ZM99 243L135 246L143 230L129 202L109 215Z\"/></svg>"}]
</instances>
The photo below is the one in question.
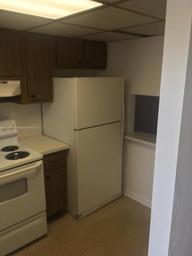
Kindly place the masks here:
<instances>
[{"instance_id":1,"label":"ceiling tile above tall upper cabinet, just below light panel's right end","mask_svg":"<svg viewBox=\"0 0 192 256\"><path fill-rule=\"evenodd\" d=\"M97 33L97 32L100 32L101 30L89 29L89 28L55 22L45 26L38 27L36 29L30 29L29 31L42 33L42 34L49 34L49 35L77 37L80 35Z\"/></svg>"}]
</instances>

